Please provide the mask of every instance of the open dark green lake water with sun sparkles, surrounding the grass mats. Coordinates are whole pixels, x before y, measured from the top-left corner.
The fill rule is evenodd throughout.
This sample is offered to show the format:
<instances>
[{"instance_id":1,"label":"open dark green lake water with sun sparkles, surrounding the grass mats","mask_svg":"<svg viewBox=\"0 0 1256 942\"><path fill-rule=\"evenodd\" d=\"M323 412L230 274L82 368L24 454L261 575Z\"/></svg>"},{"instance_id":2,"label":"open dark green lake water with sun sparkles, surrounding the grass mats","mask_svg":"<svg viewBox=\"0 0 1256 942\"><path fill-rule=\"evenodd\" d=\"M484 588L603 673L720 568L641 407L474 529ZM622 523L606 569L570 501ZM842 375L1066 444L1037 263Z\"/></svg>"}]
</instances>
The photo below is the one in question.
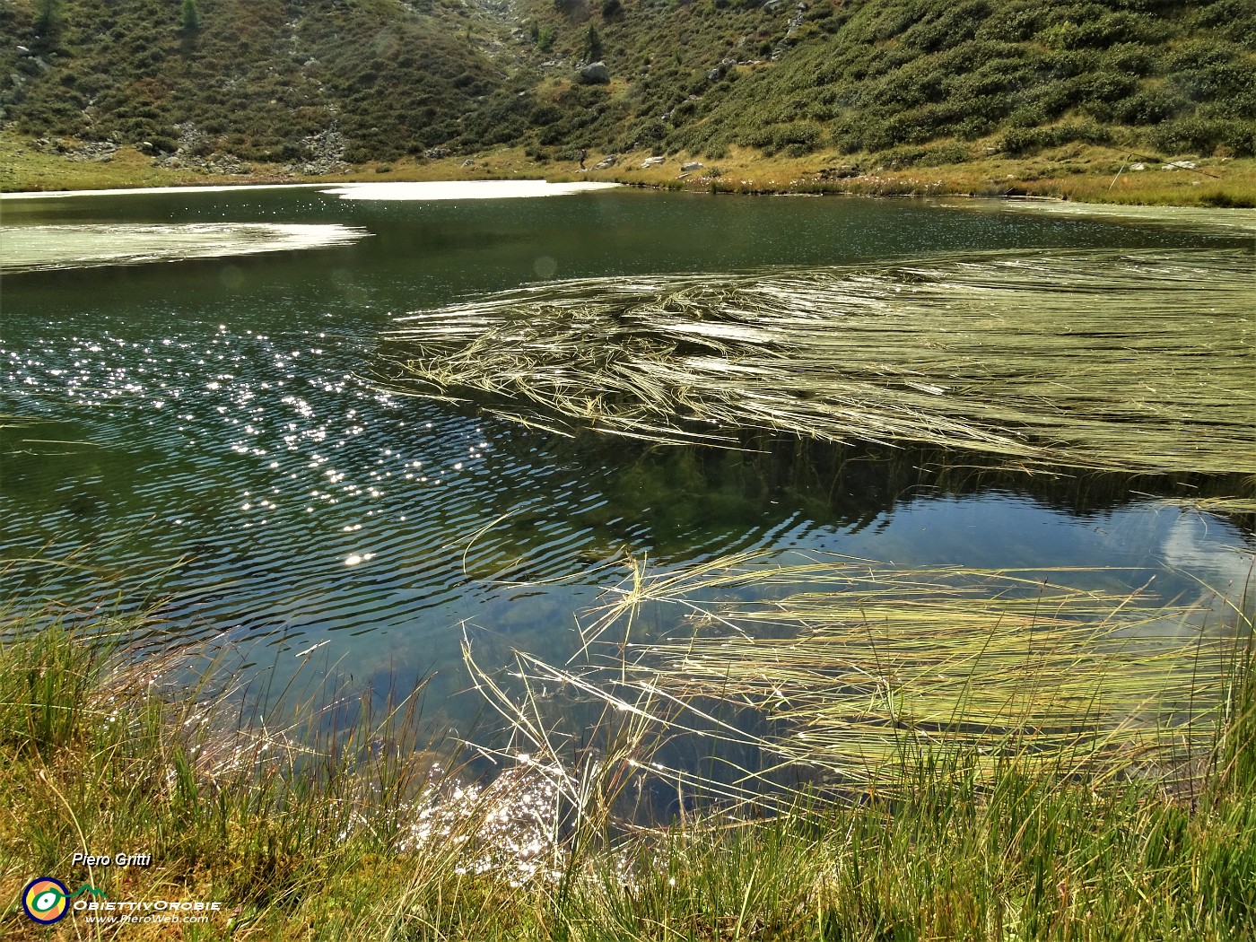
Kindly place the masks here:
<instances>
[{"instance_id":1,"label":"open dark green lake water with sun sparkles, surrounding the grass mats","mask_svg":"<svg viewBox=\"0 0 1256 942\"><path fill-rule=\"evenodd\" d=\"M937 456L914 453L570 443L389 396L367 376L394 315L540 279L1245 236L917 201L636 191L398 203L309 188L170 192L6 201L3 214L6 245L57 225L114 227L116 241L118 226L371 234L11 274L0 299L0 413L49 420L0 431L3 555L87 548L92 575L33 566L28 584L167 599L177 633L257 641L255 659L280 679L306 658L354 683L436 672L430 701L441 702L466 687L463 624L490 663L511 647L565 657L573 613L618 578L623 550L664 565L759 548L1122 566L1093 578L1133 588L1156 574L1169 595L1198 584L1166 566L1220 585L1248 571L1236 551L1248 538L1145 496L1174 490L1154 481L978 481L922 471Z\"/></svg>"}]
</instances>

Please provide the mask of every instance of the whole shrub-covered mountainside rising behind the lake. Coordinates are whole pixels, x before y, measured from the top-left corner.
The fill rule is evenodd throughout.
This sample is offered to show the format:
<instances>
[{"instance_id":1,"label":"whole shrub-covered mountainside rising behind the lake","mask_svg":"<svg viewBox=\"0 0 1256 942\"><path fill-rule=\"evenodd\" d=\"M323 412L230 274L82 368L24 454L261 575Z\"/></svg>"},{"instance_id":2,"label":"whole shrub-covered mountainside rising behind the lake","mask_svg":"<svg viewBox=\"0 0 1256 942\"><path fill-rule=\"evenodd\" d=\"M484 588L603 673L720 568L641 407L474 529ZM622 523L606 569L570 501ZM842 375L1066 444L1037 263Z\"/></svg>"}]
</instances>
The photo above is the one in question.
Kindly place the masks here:
<instances>
[{"instance_id":1,"label":"whole shrub-covered mountainside rising behind the lake","mask_svg":"<svg viewBox=\"0 0 1256 942\"><path fill-rule=\"evenodd\" d=\"M1251 0L480 3L0 0L0 124L271 163L1256 154Z\"/></svg>"}]
</instances>

